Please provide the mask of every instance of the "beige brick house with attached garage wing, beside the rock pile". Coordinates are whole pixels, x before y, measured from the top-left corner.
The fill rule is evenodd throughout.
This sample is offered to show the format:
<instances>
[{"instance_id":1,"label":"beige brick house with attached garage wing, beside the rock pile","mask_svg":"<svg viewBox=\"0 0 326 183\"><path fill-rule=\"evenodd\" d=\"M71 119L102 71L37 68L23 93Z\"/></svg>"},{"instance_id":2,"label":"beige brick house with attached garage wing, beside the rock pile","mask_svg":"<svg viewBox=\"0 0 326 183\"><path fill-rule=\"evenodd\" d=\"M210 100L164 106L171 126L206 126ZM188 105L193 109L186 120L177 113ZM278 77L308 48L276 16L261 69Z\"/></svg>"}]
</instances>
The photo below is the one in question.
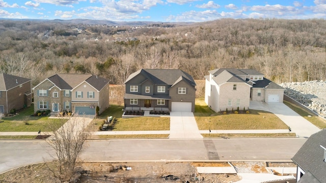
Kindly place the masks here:
<instances>
[{"instance_id":1,"label":"beige brick house with attached garage wing, beside the rock pile","mask_svg":"<svg viewBox=\"0 0 326 183\"><path fill-rule=\"evenodd\" d=\"M215 112L248 109L250 101L283 102L284 88L253 69L215 69L205 76L205 103Z\"/></svg>"}]
</instances>

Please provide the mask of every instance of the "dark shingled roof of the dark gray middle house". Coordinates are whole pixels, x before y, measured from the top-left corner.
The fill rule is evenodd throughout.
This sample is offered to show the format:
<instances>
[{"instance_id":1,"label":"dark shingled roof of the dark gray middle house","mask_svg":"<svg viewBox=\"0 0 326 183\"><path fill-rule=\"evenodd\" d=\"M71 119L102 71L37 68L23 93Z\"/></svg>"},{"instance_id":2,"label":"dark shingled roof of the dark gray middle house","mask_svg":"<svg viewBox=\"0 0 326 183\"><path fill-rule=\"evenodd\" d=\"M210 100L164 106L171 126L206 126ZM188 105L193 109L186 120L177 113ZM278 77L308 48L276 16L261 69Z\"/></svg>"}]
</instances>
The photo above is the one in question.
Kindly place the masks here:
<instances>
[{"instance_id":1,"label":"dark shingled roof of the dark gray middle house","mask_svg":"<svg viewBox=\"0 0 326 183\"><path fill-rule=\"evenodd\" d=\"M130 81L135 76L142 74L148 80L155 84L174 85L181 80L186 81L192 86L195 86L195 80L191 75L179 69L141 69L132 74L126 79L125 83Z\"/></svg>"}]
</instances>

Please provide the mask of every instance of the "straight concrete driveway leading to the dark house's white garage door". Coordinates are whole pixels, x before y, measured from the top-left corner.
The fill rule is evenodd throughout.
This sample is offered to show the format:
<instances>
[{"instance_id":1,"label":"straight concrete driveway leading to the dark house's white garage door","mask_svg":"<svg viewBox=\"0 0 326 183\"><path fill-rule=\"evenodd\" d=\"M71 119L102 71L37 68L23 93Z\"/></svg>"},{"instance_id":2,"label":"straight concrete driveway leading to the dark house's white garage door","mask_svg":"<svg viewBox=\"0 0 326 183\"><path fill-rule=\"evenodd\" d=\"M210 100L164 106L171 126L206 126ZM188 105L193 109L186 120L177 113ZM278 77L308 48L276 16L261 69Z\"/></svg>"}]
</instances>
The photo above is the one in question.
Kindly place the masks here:
<instances>
[{"instance_id":1,"label":"straight concrete driveway leading to the dark house's white garage door","mask_svg":"<svg viewBox=\"0 0 326 183\"><path fill-rule=\"evenodd\" d=\"M171 112L170 113L170 136L174 139L203 138L198 130L194 113Z\"/></svg>"}]
</instances>

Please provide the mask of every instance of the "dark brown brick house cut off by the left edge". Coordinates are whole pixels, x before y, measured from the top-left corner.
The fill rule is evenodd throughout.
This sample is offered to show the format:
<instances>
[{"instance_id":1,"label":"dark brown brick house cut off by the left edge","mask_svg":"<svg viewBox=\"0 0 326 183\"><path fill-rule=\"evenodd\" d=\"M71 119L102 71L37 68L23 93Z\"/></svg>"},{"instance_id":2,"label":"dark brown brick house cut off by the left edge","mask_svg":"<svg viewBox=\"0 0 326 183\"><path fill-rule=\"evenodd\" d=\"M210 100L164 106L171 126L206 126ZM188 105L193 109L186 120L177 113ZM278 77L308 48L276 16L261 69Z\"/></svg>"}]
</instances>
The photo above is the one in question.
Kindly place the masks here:
<instances>
[{"instance_id":1,"label":"dark brown brick house cut off by the left edge","mask_svg":"<svg viewBox=\"0 0 326 183\"><path fill-rule=\"evenodd\" d=\"M10 113L31 106L31 79L10 74L0 74L0 112Z\"/></svg>"}]
</instances>

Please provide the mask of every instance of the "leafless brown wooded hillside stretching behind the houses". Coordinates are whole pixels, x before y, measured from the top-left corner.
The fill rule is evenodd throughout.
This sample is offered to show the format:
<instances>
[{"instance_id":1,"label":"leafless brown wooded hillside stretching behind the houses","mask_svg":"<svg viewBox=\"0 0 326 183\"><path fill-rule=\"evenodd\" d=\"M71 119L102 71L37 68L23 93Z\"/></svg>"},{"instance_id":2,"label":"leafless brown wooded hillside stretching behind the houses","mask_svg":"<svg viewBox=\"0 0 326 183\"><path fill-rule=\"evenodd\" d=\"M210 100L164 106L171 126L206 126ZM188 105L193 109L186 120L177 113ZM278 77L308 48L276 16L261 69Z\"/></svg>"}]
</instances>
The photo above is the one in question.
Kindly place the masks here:
<instances>
[{"instance_id":1,"label":"leafless brown wooded hillside stretching behind the houses","mask_svg":"<svg viewBox=\"0 0 326 183\"><path fill-rule=\"evenodd\" d=\"M0 72L33 85L55 73L91 73L122 84L141 68L181 69L199 80L216 68L256 69L278 83L326 80L325 35L320 19L139 27L0 20Z\"/></svg>"}]
</instances>

